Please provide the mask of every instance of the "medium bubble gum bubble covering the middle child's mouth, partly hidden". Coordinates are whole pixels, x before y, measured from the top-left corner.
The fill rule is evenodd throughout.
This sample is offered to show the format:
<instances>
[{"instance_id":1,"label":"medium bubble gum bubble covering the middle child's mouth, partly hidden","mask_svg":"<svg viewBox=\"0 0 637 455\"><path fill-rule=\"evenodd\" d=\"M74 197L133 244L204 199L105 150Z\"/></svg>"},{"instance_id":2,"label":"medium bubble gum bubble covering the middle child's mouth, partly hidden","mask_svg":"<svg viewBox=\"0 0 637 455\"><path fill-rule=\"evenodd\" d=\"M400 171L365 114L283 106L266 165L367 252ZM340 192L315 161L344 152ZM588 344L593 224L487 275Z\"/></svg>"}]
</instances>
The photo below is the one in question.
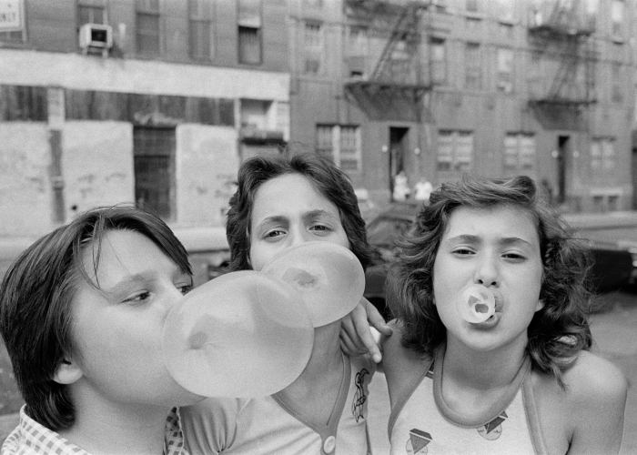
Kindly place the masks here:
<instances>
[{"instance_id":1,"label":"medium bubble gum bubble covering the middle child's mouth, partly hidden","mask_svg":"<svg viewBox=\"0 0 637 455\"><path fill-rule=\"evenodd\" d=\"M349 314L365 290L359 259L348 248L331 242L306 242L288 248L262 271L298 290L314 327Z\"/></svg>"}]
</instances>

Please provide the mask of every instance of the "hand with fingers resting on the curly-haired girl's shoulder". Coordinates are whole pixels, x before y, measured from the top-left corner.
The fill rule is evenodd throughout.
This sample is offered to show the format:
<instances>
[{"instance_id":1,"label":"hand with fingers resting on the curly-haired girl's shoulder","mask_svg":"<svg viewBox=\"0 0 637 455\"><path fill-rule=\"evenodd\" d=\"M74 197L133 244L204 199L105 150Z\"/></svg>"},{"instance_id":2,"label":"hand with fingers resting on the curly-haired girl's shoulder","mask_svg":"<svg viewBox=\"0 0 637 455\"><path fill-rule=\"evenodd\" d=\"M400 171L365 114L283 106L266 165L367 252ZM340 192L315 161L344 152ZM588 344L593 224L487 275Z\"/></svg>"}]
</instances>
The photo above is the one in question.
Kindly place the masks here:
<instances>
[{"instance_id":1,"label":"hand with fingers resting on the curly-haired girl's shoulder","mask_svg":"<svg viewBox=\"0 0 637 455\"><path fill-rule=\"evenodd\" d=\"M349 356L369 353L379 363L382 360L379 339L389 337L391 331L379 310L367 298L361 298L356 308L341 320L340 349Z\"/></svg>"}]
</instances>

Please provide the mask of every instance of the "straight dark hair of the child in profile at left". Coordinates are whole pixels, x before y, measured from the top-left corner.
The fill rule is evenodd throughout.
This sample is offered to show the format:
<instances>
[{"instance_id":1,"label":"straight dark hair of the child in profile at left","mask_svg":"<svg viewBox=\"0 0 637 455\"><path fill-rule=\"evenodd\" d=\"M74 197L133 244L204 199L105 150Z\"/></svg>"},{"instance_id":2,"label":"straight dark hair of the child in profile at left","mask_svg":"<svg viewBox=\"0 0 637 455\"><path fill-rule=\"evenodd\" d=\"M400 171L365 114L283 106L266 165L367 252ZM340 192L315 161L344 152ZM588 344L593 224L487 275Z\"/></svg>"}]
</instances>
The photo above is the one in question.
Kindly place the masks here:
<instances>
[{"instance_id":1,"label":"straight dark hair of the child in profile at left","mask_svg":"<svg viewBox=\"0 0 637 455\"><path fill-rule=\"evenodd\" d=\"M188 275L186 249L160 218L135 207L97 207L35 241L15 259L0 288L0 332L13 365L26 411L50 430L75 421L68 386L53 378L74 352L71 303L80 280L96 288L84 267L83 252L95 248L111 230L136 231L150 239Z\"/></svg>"}]
</instances>

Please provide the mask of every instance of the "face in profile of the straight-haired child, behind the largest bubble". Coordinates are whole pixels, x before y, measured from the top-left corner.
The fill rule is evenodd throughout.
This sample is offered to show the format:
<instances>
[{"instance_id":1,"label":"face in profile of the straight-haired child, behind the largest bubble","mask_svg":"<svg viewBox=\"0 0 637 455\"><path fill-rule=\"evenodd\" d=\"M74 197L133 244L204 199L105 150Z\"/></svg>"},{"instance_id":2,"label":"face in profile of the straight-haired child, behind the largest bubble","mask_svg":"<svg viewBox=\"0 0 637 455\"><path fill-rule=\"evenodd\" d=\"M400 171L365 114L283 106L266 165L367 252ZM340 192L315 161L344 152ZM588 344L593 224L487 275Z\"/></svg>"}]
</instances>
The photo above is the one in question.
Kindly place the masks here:
<instances>
[{"instance_id":1,"label":"face in profile of the straight-haired child, behind the largest bubble","mask_svg":"<svg viewBox=\"0 0 637 455\"><path fill-rule=\"evenodd\" d=\"M192 288L192 278L147 237L111 230L102 240L96 274L93 248L84 268L99 286L78 278L71 305L77 387L124 403L174 406L197 398L164 367L161 333L170 308Z\"/></svg>"}]
</instances>

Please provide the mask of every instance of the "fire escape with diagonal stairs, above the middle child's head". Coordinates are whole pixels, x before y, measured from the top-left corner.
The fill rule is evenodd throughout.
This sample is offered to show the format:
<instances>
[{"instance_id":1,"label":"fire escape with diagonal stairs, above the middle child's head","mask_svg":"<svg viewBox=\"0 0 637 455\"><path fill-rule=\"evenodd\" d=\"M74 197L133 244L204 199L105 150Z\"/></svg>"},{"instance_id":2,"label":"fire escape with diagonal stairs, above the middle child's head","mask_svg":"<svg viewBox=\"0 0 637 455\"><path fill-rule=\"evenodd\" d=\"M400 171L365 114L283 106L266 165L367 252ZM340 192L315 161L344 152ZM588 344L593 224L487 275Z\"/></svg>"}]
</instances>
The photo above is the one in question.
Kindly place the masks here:
<instances>
[{"instance_id":1,"label":"fire escape with diagonal stairs, above the middle child's head","mask_svg":"<svg viewBox=\"0 0 637 455\"><path fill-rule=\"evenodd\" d=\"M420 19L423 2L346 0L346 15L374 35L387 35L369 76L350 78L346 96L353 98L372 119L419 122L423 96L431 86L423 82L420 66Z\"/></svg>"}]
</instances>

